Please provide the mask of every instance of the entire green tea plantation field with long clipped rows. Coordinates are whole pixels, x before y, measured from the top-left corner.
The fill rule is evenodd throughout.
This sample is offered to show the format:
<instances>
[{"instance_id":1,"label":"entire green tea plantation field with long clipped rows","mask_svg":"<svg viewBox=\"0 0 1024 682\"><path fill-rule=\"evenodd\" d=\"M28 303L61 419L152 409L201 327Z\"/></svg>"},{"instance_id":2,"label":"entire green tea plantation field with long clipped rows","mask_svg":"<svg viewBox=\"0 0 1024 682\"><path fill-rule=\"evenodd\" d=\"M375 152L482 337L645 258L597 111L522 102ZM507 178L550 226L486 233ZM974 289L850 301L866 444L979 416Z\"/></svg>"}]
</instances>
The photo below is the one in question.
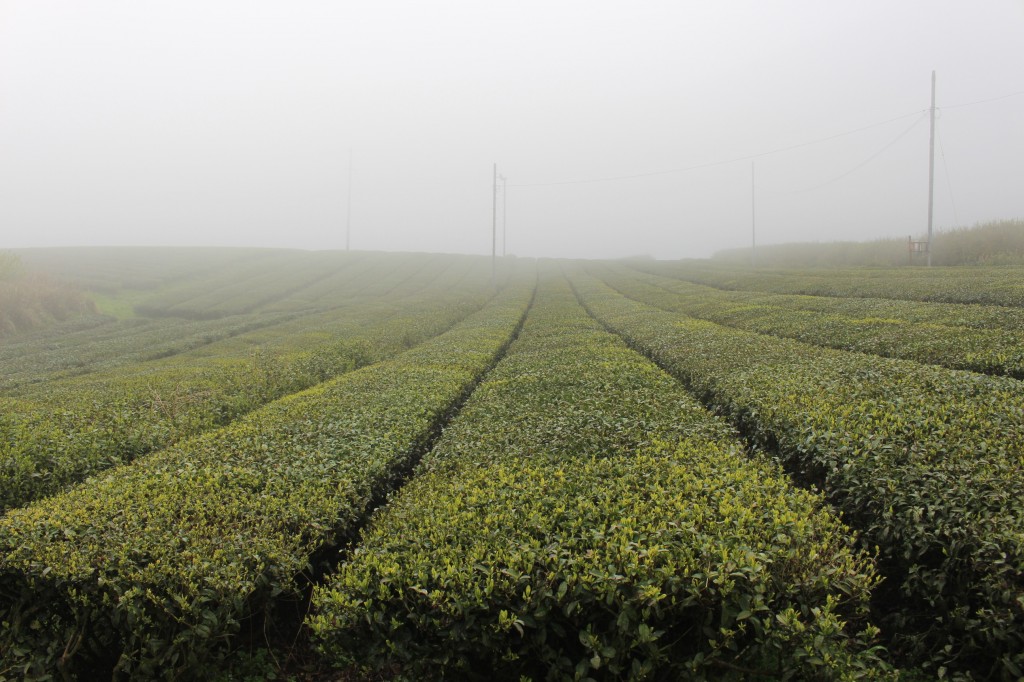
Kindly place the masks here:
<instances>
[{"instance_id":1,"label":"entire green tea plantation field with long clipped rows","mask_svg":"<svg viewBox=\"0 0 1024 682\"><path fill-rule=\"evenodd\" d=\"M1024 677L1024 275L19 254L0 679Z\"/></svg>"}]
</instances>

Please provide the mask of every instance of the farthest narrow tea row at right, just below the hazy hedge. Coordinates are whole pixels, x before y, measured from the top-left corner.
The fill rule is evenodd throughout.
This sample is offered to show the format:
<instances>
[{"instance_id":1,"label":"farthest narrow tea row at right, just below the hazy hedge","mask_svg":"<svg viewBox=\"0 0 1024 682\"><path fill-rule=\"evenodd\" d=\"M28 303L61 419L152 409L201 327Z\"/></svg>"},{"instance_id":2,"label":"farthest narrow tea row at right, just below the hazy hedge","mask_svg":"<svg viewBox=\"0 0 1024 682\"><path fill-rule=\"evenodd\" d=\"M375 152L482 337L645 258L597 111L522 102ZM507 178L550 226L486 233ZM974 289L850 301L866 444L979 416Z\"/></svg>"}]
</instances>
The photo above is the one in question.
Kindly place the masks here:
<instances>
[{"instance_id":1,"label":"farthest narrow tea row at right, just below the hazy hedge","mask_svg":"<svg viewBox=\"0 0 1024 682\"><path fill-rule=\"evenodd\" d=\"M1024 307L1024 278L1019 266L752 270L749 267L639 260L631 261L630 265L718 289Z\"/></svg>"}]
</instances>

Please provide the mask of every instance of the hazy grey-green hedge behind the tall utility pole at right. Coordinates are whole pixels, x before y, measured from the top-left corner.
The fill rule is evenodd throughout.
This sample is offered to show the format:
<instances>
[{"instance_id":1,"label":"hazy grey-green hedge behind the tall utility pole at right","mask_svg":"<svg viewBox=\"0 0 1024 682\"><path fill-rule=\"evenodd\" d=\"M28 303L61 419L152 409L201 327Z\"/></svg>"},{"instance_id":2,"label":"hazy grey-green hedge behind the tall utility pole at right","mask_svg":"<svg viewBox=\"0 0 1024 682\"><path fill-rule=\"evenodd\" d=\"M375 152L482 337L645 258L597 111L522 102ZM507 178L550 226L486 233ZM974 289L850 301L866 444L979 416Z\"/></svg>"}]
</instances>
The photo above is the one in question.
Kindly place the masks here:
<instances>
[{"instance_id":1,"label":"hazy grey-green hedge behind the tall utility pole at right","mask_svg":"<svg viewBox=\"0 0 1024 682\"><path fill-rule=\"evenodd\" d=\"M927 236L914 235L914 241ZM900 266L924 265L924 253L910 254L907 239L872 242L828 242L773 244L759 246L758 267L815 266ZM751 250L728 249L712 259L721 263L750 264ZM997 220L936 231L933 237L933 265L1021 265L1024 264L1024 219Z\"/></svg>"}]
</instances>

